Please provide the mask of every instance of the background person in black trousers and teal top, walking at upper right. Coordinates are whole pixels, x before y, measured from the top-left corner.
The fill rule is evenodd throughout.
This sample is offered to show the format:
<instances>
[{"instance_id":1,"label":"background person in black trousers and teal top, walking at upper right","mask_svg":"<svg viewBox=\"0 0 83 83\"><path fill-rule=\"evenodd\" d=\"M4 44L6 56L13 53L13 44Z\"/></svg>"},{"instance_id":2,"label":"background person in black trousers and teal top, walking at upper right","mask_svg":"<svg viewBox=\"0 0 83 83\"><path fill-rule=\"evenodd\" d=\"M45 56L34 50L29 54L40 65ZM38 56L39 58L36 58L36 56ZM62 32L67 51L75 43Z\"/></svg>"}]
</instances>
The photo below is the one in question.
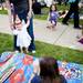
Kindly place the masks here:
<instances>
[{"instance_id":1,"label":"background person in black trousers and teal top, walking at upper right","mask_svg":"<svg viewBox=\"0 0 83 83\"><path fill-rule=\"evenodd\" d=\"M74 29L81 29L80 28L80 17L79 17L79 1L80 0L66 0L70 3L70 10L66 13L65 18L63 19L62 23L68 25L68 20L72 14L74 14Z\"/></svg>"}]
</instances>

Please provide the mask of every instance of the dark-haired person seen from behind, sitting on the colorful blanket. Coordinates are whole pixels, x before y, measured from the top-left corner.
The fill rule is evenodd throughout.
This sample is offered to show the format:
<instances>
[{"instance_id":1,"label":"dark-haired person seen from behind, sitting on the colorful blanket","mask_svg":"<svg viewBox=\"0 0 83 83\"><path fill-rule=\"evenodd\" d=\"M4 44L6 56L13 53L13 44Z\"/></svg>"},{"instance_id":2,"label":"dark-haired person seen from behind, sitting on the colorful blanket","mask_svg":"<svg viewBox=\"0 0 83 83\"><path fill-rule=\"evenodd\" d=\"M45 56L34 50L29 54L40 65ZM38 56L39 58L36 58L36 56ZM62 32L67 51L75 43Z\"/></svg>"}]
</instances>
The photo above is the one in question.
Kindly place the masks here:
<instances>
[{"instance_id":1,"label":"dark-haired person seen from behind, sitting on the colorful blanket","mask_svg":"<svg viewBox=\"0 0 83 83\"><path fill-rule=\"evenodd\" d=\"M66 83L64 76L59 73L58 61L54 58L40 58L33 64L34 76L31 83Z\"/></svg>"}]
</instances>

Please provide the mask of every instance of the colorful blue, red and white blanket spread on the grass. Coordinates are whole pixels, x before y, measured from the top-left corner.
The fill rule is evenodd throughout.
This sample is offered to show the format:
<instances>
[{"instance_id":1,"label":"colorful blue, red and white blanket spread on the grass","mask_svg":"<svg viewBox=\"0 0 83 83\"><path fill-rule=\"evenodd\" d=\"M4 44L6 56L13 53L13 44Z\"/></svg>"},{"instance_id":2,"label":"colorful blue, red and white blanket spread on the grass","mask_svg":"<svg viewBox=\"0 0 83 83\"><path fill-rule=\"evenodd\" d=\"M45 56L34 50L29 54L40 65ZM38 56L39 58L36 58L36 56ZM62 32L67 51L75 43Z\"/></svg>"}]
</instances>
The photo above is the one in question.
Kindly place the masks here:
<instances>
[{"instance_id":1,"label":"colorful blue, red and white blanket spread on the grass","mask_svg":"<svg viewBox=\"0 0 83 83\"><path fill-rule=\"evenodd\" d=\"M37 59L23 53L3 52L0 55L0 83L29 83L33 73L33 61ZM82 64L61 61L58 61L58 64L68 83L83 83ZM6 75L7 72L10 73Z\"/></svg>"}]
</instances>

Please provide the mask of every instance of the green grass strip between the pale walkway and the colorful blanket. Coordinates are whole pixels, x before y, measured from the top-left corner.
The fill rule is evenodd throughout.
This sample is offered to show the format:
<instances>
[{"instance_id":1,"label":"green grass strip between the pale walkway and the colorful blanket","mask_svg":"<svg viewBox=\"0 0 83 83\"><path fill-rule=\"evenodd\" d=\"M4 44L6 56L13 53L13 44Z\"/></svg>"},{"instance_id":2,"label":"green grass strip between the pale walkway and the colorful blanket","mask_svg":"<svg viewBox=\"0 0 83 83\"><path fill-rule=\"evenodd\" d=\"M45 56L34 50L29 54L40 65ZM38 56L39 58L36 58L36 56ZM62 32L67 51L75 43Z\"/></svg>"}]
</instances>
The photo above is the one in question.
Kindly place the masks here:
<instances>
[{"instance_id":1,"label":"green grass strip between the pale walkway and the colorful blanket","mask_svg":"<svg viewBox=\"0 0 83 83\"><path fill-rule=\"evenodd\" d=\"M0 53L4 51L13 51L12 41L13 38L11 35L0 33ZM34 56L53 56L58 60L83 64L82 51L48 44L39 41L35 41L35 48L37 48L37 53L34 54Z\"/></svg>"}]
</instances>

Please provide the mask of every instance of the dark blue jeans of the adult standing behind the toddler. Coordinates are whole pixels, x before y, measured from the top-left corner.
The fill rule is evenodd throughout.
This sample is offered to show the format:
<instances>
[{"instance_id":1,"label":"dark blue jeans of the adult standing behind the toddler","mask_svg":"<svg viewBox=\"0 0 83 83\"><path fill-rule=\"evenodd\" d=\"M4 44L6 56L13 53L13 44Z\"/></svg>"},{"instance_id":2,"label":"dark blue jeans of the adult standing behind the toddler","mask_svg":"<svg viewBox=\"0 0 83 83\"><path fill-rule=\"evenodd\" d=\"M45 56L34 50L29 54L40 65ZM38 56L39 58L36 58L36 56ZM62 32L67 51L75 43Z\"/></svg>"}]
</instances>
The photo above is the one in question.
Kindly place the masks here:
<instances>
[{"instance_id":1,"label":"dark blue jeans of the adult standing behind the toddler","mask_svg":"<svg viewBox=\"0 0 83 83\"><path fill-rule=\"evenodd\" d=\"M20 18L20 20L24 20L27 22L27 15L28 15L28 11L23 11L21 13L17 13ZM34 45L34 34L33 34L33 18L30 19L30 25L28 28L28 32L31 37L31 43L29 46L29 51L35 50L35 45ZM19 50L19 48L17 46L17 35L14 35L14 50Z\"/></svg>"}]
</instances>

